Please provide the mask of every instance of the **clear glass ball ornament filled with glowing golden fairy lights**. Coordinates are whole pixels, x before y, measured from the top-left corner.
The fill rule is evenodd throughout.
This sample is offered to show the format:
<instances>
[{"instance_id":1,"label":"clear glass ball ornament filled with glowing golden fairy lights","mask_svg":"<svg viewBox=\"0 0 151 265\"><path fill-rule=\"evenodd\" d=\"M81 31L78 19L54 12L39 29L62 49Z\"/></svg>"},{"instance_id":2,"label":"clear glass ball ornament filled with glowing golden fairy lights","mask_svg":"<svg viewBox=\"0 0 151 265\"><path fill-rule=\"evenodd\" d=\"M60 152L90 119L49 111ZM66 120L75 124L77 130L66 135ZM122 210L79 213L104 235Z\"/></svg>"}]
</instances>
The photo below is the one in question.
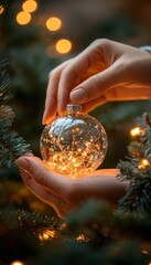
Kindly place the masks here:
<instances>
[{"instance_id":1,"label":"clear glass ball ornament filled with glowing golden fairy lights","mask_svg":"<svg viewBox=\"0 0 151 265\"><path fill-rule=\"evenodd\" d=\"M103 162L107 135L94 117L82 113L80 105L68 104L65 116L45 126L40 147L53 171L78 178L93 172Z\"/></svg>"}]
</instances>

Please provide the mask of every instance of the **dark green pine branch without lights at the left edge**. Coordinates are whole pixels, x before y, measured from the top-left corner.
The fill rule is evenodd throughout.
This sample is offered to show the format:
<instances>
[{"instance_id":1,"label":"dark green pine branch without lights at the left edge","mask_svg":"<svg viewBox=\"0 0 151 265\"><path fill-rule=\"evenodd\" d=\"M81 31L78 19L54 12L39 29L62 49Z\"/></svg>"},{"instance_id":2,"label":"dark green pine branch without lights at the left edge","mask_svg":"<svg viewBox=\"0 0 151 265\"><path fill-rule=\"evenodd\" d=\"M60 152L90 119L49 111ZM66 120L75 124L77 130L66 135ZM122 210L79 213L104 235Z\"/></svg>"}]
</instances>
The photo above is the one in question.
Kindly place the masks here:
<instances>
[{"instance_id":1,"label":"dark green pine branch without lights at the left edge","mask_svg":"<svg viewBox=\"0 0 151 265\"><path fill-rule=\"evenodd\" d=\"M0 167L10 167L18 157L29 152L29 145L23 138L10 130L14 113L6 105L12 97L7 64L7 60L0 62Z\"/></svg>"}]
</instances>

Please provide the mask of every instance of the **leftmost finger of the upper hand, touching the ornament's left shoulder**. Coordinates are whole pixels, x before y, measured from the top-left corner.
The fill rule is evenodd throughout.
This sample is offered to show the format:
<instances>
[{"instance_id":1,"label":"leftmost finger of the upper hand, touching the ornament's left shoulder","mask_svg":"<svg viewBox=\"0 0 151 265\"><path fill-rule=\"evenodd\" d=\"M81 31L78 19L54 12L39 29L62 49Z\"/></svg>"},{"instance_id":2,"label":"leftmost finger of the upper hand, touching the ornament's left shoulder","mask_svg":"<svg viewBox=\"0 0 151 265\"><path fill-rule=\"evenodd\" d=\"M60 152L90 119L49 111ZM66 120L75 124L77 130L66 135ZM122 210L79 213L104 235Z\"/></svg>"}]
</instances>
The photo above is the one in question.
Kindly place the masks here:
<instances>
[{"instance_id":1,"label":"leftmost finger of the upper hand, touching the ornament's left shoulder","mask_svg":"<svg viewBox=\"0 0 151 265\"><path fill-rule=\"evenodd\" d=\"M45 98L45 109L43 114L43 124L48 124L56 115L57 110L57 87L60 82L60 76L62 71L66 67L66 65L71 62L71 60L62 63L54 71L50 73L48 85L46 91Z\"/></svg>"}]
</instances>

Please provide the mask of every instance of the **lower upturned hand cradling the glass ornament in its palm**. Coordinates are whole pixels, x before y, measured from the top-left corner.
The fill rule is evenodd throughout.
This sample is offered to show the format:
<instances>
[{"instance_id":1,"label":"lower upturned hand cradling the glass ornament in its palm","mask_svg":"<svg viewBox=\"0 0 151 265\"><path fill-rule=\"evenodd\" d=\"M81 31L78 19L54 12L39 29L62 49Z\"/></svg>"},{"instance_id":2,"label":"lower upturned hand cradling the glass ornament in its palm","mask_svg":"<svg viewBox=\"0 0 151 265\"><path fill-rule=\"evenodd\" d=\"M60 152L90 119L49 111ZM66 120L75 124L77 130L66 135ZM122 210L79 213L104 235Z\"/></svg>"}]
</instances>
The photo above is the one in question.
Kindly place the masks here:
<instances>
[{"instance_id":1,"label":"lower upturned hand cradling the glass ornament in its palm","mask_svg":"<svg viewBox=\"0 0 151 265\"><path fill-rule=\"evenodd\" d=\"M51 171L45 162L32 155L20 157L15 162L25 186L60 218L87 199L104 199L115 204L126 192L126 183L116 178L117 169L97 170L72 179Z\"/></svg>"}]
</instances>

